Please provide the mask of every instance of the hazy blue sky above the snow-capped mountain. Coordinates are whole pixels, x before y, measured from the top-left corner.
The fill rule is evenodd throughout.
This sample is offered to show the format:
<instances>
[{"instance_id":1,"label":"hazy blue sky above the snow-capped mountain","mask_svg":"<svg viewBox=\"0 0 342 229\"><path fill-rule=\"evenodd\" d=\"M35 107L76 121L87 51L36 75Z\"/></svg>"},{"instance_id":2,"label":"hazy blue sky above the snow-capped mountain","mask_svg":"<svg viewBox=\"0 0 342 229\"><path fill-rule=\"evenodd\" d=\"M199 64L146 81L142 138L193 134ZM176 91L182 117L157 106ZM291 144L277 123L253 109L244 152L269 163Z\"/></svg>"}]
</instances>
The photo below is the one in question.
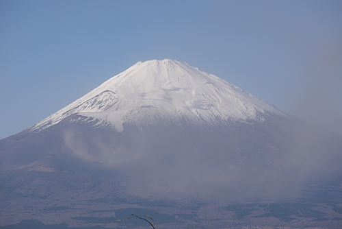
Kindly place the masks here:
<instances>
[{"instance_id":1,"label":"hazy blue sky above the snow-capped mountain","mask_svg":"<svg viewBox=\"0 0 342 229\"><path fill-rule=\"evenodd\" d=\"M165 58L342 134L342 1L0 0L0 138Z\"/></svg>"}]
</instances>

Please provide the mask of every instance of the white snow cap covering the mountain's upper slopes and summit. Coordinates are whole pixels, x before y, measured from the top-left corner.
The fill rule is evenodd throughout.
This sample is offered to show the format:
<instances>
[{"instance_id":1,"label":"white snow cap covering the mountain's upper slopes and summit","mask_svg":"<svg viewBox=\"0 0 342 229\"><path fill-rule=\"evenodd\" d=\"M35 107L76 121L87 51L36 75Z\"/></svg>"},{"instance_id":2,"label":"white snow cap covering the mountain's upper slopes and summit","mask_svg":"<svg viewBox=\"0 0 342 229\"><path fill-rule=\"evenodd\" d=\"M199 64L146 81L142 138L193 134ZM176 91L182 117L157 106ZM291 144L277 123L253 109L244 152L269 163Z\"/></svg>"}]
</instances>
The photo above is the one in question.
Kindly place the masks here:
<instances>
[{"instance_id":1,"label":"white snow cap covering the mountain's upper slopes and summit","mask_svg":"<svg viewBox=\"0 0 342 229\"><path fill-rule=\"evenodd\" d=\"M39 132L70 115L95 118L121 132L124 123L216 125L226 121L262 122L269 114L286 115L265 101L185 62L137 62L101 86L29 128Z\"/></svg>"}]
</instances>

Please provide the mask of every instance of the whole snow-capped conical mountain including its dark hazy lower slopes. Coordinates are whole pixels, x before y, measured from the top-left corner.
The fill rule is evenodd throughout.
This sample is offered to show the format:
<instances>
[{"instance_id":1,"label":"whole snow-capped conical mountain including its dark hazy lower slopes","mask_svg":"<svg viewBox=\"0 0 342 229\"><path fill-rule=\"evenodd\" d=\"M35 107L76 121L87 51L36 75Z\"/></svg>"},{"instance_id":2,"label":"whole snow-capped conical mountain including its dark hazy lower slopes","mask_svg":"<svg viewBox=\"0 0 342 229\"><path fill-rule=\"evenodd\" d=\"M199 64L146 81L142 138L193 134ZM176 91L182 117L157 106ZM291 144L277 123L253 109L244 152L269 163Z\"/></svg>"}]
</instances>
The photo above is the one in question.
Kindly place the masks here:
<instances>
[{"instance_id":1,"label":"whole snow-capped conical mountain including its dark hazy lower slopes","mask_svg":"<svg viewBox=\"0 0 342 229\"><path fill-rule=\"evenodd\" d=\"M105 217L127 209L171 217L163 226L172 228L341 226L341 149L339 134L185 62L137 62L0 141L0 228L23 219L118 227ZM317 204L322 190L337 204ZM272 204L294 200L326 210L272 215Z\"/></svg>"}]
</instances>

